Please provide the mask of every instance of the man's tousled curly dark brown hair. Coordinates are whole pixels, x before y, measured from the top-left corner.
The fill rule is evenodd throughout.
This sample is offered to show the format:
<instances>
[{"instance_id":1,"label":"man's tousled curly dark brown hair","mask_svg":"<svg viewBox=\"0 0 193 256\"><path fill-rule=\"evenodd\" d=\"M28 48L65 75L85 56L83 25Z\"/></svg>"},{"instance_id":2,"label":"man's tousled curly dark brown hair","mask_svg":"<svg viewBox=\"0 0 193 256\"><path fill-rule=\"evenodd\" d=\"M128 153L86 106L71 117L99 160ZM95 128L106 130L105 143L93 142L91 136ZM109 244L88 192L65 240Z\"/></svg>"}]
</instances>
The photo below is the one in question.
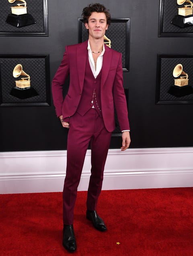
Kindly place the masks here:
<instances>
[{"instance_id":1,"label":"man's tousled curly dark brown hair","mask_svg":"<svg viewBox=\"0 0 193 256\"><path fill-rule=\"evenodd\" d=\"M88 18L90 17L92 12L104 12L107 18L107 24L110 25L111 15L109 13L109 10L103 4L89 4L88 6L84 7L82 11L84 23L88 23Z\"/></svg>"}]
</instances>

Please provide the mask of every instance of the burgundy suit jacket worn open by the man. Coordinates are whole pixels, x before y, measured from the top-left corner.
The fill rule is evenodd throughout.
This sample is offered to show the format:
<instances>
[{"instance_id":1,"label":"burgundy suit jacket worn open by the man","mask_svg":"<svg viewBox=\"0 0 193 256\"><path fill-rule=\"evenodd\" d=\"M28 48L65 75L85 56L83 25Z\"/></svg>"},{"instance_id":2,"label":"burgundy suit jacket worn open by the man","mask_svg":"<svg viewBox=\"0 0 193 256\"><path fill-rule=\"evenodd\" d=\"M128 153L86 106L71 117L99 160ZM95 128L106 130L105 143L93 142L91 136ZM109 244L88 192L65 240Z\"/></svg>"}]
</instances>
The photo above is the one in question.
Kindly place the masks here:
<instances>
[{"instance_id":1,"label":"burgundy suit jacket worn open by the man","mask_svg":"<svg viewBox=\"0 0 193 256\"><path fill-rule=\"evenodd\" d=\"M84 85L88 41L66 46L60 67L52 81L52 96L57 117L71 117L80 102ZM121 131L129 130L127 103L123 89L121 53L105 46L101 70L101 111L107 131L115 129L114 106ZM70 74L70 85L65 99L62 86Z\"/></svg>"}]
</instances>

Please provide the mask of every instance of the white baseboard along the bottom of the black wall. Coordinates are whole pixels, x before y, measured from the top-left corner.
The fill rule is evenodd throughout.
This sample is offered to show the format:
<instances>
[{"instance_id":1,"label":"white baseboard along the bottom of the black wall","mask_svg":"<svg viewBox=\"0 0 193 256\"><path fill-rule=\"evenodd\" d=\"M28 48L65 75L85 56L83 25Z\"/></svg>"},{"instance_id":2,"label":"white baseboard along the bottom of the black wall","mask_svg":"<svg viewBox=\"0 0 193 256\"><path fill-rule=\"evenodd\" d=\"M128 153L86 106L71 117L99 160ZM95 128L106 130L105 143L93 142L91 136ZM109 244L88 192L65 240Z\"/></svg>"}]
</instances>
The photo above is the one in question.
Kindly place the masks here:
<instances>
[{"instance_id":1,"label":"white baseboard along the bottom of the black wall","mask_svg":"<svg viewBox=\"0 0 193 256\"><path fill-rule=\"evenodd\" d=\"M62 191L66 151L0 152L0 194ZM90 150L79 191L87 190ZM103 190L193 186L193 148L109 150Z\"/></svg>"}]
</instances>

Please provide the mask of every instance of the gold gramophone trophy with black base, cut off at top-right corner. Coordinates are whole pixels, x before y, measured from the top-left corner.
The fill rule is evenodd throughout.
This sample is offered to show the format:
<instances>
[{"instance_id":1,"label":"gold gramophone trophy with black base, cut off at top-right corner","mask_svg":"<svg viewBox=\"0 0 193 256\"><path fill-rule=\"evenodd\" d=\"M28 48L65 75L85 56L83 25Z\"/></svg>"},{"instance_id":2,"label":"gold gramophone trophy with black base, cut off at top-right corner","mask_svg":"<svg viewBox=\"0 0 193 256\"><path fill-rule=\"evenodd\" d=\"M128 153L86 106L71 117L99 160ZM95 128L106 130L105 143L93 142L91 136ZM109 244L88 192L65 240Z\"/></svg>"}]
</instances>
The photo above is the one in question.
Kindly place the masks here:
<instances>
[{"instance_id":1,"label":"gold gramophone trophy with black base, cut off at top-right corner","mask_svg":"<svg viewBox=\"0 0 193 256\"><path fill-rule=\"evenodd\" d=\"M193 25L193 2L190 0L177 0L177 4L181 5L184 3L184 7L178 8L178 15L172 19L171 24L178 27L184 28Z\"/></svg>"}]
</instances>

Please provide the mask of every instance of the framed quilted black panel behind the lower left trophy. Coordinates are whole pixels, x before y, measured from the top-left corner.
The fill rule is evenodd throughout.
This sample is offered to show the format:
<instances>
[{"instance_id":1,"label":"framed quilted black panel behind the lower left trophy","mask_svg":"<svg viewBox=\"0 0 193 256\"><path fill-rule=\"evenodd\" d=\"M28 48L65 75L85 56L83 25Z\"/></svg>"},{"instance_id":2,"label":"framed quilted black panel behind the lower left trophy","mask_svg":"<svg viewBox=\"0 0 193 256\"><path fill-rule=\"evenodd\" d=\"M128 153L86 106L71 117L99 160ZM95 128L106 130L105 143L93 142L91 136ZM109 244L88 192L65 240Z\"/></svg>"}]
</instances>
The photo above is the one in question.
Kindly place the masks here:
<instances>
[{"instance_id":1,"label":"framed quilted black panel behind the lower left trophy","mask_svg":"<svg viewBox=\"0 0 193 256\"><path fill-rule=\"evenodd\" d=\"M49 99L49 70L46 70L45 57L40 58L0 58L0 93L1 104L14 104L14 103L47 103ZM31 87L34 87L38 96L27 99L19 99L12 95L10 92L15 86L15 81L20 77L13 77L13 69L17 64L23 66L23 71L30 75ZM49 66L47 65L47 69ZM23 77L23 76L22 76Z\"/></svg>"}]
</instances>

